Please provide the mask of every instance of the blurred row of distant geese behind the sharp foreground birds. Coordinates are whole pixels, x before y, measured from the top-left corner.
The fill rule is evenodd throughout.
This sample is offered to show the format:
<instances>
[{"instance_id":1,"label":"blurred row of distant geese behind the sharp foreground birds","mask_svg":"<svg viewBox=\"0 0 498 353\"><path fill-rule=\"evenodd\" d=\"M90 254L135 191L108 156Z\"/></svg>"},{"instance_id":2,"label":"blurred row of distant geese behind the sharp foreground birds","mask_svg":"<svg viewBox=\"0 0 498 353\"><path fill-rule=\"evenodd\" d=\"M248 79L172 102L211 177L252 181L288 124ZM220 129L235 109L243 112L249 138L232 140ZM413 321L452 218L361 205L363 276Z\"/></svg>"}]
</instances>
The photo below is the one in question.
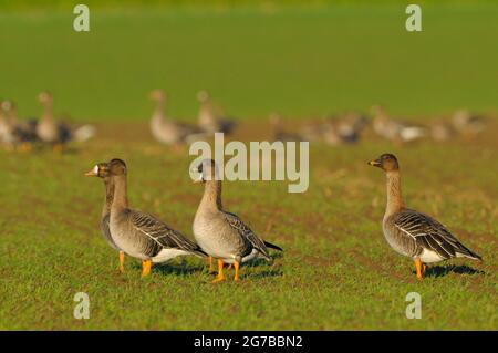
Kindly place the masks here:
<instances>
[{"instance_id":1,"label":"blurred row of distant geese behind the sharp foreground birds","mask_svg":"<svg viewBox=\"0 0 498 353\"><path fill-rule=\"evenodd\" d=\"M152 136L169 146L190 144L211 137L215 133L231 134L237 127L234 118L227 116L206 91L197 93L199 111L197 124L178 122L167 113L167 95L162 90L149 93L155 108L151 117ZM49 92L38 96L42 104L39 120L19 120L15 104L0 100L0 145L9 150L31 150L32 146L51 146L61 150L72 141L84 142L95 135L91 125L71 126L58 122L53 115L53 97ZM486 118L467 110L458 110L450 120L438 120L432 124L414 124L387 114L385 107L374 105L370 114L349 112L308 123L301 127L288 129L290 123L279 114L269 116L273 141L308 141L330 146L354 144L361 139L366 127L394 144L412 143L423 138L444 142L455 136L475 137L486 128Z\"/></svg>"}]
</instances>

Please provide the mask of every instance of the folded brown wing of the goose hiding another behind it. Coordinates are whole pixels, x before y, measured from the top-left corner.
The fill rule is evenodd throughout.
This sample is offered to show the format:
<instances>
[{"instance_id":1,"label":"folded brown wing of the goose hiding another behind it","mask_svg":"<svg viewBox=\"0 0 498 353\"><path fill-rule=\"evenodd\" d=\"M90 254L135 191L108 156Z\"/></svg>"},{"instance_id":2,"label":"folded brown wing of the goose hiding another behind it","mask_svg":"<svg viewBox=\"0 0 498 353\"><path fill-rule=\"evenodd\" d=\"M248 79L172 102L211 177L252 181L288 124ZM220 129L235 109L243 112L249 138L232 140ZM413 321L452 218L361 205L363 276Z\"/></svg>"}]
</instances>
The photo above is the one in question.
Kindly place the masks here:
<instances>
[{"instance_id":1,"label":"folded brown wing of the goose hiding another behind it","mask_svg":"<svg viewBox=\"0 0 498 353\"><path fill-rule=\"evenodd\" d=\"M198 256L206 256L198 245L152 215L132 211L129 220L137 231L147 236L162 248L180 249Z\"/></svg>"}]
</instances>

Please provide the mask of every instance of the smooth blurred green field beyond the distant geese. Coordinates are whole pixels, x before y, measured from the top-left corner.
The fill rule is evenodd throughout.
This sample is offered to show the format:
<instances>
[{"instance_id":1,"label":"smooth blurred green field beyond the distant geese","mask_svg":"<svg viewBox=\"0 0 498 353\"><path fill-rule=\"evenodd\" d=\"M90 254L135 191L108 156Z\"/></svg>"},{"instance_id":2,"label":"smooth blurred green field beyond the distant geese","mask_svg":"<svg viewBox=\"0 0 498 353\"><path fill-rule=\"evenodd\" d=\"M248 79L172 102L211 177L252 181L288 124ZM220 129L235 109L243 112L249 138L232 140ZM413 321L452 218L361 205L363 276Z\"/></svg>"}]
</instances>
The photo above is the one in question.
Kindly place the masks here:
<instances>
[{"instance_id":1,"label":"smooth blurred green field beyond the distant geese","mask_svg":"<svg viewBox=\"0 0 498 353\"><path fill-rule=\"evenodd\" d=\"M188 120L201 89L241 120L374 103L408 116L497 111L492 1L423 1L419 33L405 30L407 1L85 1L86 33L73 30L75 3L0 0L0 97L23 116L50 90L73 120L147 120L155 87Z\"/></svg>"}]
</instances>

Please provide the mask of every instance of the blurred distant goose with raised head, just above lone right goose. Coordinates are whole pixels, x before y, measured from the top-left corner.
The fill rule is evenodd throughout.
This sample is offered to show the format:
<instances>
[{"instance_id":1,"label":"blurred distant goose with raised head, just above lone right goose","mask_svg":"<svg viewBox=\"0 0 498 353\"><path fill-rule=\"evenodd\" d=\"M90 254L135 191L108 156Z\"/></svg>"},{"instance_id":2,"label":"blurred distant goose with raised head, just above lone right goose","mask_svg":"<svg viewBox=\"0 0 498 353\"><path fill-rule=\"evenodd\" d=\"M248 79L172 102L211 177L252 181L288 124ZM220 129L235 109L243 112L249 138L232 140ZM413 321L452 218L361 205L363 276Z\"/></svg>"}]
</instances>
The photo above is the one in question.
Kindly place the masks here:
<instances>
[{"instance_id":1,"label":"blurred distant goose with raised head, just above lone right goose","mask_svg":"<svg viewBox=\"0 0 498 353\"><path fill-rule=\"evenodd\" d=\"M388 141L408 143L425 137L427 134L423 126L391 118L381 105L372 106L371 111L374 132Z\"/></svg>"}]
</instances>

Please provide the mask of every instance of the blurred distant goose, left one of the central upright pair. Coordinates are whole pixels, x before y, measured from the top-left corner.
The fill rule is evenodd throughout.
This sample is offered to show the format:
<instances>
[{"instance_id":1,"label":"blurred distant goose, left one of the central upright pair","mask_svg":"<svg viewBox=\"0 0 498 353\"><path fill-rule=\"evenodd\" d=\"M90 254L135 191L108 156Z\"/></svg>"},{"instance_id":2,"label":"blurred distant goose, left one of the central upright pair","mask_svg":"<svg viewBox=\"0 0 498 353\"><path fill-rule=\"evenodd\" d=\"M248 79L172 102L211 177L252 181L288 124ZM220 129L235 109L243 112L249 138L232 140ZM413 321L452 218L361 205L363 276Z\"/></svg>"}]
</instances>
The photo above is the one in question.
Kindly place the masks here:
<instances>
[{"instance_id":1,"label":"blurred distant goose, left one of the central upright pair","mask_svg":"<svg viewBox=\"0 0 498 353\"><path fill-rule=\"evenodd\" d=\"M156 102L156 107L151 118L151 132L156 141L162 144L178 146L195 141L203 135L199 128L175 122L167 116L167 96L164 91L154 90L151 92L149 97Z\"/></svg>"}]
</instances>

